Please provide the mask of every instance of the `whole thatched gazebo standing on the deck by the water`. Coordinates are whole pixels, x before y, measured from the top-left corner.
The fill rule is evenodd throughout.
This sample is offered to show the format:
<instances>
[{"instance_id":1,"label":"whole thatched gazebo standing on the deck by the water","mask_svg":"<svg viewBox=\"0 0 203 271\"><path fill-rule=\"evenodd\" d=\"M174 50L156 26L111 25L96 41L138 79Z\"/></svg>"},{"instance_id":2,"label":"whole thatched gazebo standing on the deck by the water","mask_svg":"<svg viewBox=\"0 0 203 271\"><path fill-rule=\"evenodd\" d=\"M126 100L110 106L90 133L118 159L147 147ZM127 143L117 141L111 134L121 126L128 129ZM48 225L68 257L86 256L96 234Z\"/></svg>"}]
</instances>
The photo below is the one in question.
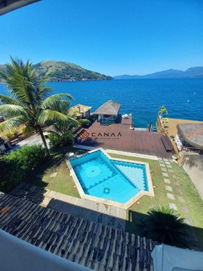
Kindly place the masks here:
<instances>
[{"instance_id":1,"label":"whole thatched gazebo standing on the deck by the water","mask_svg":"<svg viewBox=\"0 0 203 271\"><path fill-rule=\"evenodd\" d=\"M109 100L105 104L100 106L93 115L97 116L98 122L103 125L109 125L116 122L118 118L118 113L121 108L121 104L116 101Z\"/></svg>"}]
</instances>

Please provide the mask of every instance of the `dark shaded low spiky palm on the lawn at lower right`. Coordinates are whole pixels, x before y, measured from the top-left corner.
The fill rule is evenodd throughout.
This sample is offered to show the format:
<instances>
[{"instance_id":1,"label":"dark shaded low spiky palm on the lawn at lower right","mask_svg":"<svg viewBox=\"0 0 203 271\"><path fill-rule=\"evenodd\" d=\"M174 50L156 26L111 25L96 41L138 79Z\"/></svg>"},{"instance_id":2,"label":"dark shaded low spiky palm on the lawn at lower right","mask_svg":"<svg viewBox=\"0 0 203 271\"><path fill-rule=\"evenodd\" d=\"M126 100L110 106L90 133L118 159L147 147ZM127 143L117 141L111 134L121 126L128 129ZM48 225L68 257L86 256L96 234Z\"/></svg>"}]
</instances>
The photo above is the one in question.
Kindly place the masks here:
<instances>
[{"instance_id":1,"label":"dark shaded low spiky palm on the lawn at lower right","mask_svg":"<svg viewBox=\"0 0 203 271\"><path fill-rule=\"evenodd\" d=\"M186 231L188 225L184 218L167 206L157 206L148 211L148 217L138 223L141 236L177 247L187 247Z\"/></svg>"}]
</instances>

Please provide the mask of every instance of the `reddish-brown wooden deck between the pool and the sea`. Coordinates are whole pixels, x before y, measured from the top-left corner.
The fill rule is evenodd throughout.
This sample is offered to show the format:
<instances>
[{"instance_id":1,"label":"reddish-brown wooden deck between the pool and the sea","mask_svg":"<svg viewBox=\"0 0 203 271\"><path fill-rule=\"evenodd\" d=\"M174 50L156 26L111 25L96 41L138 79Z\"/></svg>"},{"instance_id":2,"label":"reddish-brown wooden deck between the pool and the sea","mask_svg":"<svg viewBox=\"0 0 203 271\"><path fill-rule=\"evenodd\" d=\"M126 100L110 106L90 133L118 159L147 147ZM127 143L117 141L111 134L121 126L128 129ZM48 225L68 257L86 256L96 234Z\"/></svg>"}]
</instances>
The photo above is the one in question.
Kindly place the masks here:
<instances>
[{"instance_id":1,"label":"reddish-brown wooden deck between the pool and the sea","mask_svg":"<svg viewBox=\"0 0 203 271\"><path fill-rule=\"evenodd\" d=\"M161 134L130 130L130 124L125 124L125 122L109 126L94 122L89 128L83 129L77 143L91 147L155 155L162 158L172 157L161 141Z\"/></svg>"}]
</instances>

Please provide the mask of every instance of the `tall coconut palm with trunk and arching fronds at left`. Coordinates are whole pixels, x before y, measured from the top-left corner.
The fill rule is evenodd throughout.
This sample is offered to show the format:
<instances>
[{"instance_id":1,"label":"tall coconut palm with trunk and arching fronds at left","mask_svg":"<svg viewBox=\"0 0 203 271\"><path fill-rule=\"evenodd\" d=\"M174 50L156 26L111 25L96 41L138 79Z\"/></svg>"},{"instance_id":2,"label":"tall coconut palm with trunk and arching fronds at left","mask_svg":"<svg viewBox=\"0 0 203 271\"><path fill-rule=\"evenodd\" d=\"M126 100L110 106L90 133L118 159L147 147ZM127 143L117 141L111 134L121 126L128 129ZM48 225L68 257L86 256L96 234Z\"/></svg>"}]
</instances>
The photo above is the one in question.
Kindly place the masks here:
<instances>
[{"instance_id":1,"label":"tall coconut palm with trunk and arching fronds at left","mask_svg":"<svg viewBox=\"0 0 203 271\"><path fill-rule=\"evenodd\" d=\"M6 117L1 122L0 131L11 129L19 124L33 127L39 134L49 155L42 126L52 121L67 121L69 116L64 115L65 108L69 108L71 95L60 93L49 96L51 88L46 86L49 74L42 79L32 63L11 58L6 65L6 71L0 72L3 82L6 83L9 96L0 95L0 114Z\"/></svg>"}]
</instances>

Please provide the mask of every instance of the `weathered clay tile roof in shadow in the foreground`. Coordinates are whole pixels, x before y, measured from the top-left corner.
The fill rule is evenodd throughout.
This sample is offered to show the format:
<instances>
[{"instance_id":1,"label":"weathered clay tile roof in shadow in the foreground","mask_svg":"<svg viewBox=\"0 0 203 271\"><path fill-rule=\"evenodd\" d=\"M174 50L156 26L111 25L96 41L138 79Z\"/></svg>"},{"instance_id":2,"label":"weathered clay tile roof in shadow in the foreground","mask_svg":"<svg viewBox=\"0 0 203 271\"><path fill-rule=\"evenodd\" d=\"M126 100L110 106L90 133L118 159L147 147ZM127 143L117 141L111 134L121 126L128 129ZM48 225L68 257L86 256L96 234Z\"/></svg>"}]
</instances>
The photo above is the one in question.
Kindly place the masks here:
<instances>
[{"instance_id":1,"label":"weathered clay tile roof in shadow in the foreground","mask_svg":"<svg viewBox=\"0 0 203 271\"><path fill-rule=\"evenodd\" d=\"M93 270L152 270L157 243L0 192L0 229ZM31 264L31 263L30 263Z\"/></svg>"}]
</instances>

